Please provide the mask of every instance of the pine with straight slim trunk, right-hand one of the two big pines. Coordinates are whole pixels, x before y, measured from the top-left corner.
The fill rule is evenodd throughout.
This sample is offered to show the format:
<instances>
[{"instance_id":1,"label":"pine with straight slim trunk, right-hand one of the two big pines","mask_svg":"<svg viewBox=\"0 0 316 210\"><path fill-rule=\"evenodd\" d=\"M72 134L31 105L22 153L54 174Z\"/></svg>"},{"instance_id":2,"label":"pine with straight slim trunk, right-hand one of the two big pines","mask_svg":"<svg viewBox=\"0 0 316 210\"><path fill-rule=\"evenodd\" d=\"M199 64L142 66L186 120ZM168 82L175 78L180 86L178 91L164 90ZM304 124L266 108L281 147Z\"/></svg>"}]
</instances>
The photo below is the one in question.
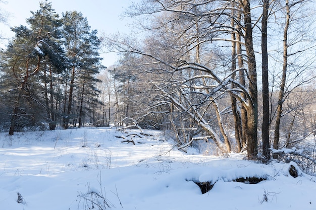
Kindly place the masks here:
<instances>
[{"instance_id":1,"label":"pine with straight slim trunk, right-hand one of the two big pines","mask_svg":"<svg viewBox=\"0 0 316 210\"><path fill-rule=\"evenodd\" d=\"M96 74L102 66L98 53L100 40L96 36L97 31L90 30L87 19L76 11L66 12L63 14L63 23L65 48L71 63L68 104L66 106L66 97L64 104L64 129L67 129L70 119L73 120L75 126L79 118L79 127L82 125L85 96L88 93L97 94ZM75 92L78 96L77 101L74 100ZM74 104L77 104L76 110L74 110Z\"/></svg>"}]
</instances>

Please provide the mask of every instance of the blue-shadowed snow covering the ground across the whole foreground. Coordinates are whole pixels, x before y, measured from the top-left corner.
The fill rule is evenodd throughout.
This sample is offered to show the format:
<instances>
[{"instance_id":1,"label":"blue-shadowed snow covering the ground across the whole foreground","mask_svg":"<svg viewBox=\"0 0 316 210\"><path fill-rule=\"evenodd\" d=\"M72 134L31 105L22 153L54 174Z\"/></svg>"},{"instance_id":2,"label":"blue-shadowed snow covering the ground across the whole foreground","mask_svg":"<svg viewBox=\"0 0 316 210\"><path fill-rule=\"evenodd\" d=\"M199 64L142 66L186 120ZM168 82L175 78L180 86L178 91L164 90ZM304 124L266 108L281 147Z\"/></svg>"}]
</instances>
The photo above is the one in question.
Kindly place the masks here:
<instances>
[{"instance_id":1,"label":"blue-shadowed snow covering the ground across the whole foreground","mask_svg":"<svg viewBox=\"0 0 316 210\"><path fill-rule=\"evenodd\" d=\"M119 136L133 138L135 145L122 143ZM97 204L144 210L316 209L316 177L302 173L293 162L264 165L234 153L228 158L199 155L193 149L183 153L159 131L0 133L0 143L4 210L92 209L90 201L95 209ZM300 176L290 176L291 165ZM234 181L241 177L266 180ZM202 194L194 182L214 186Z\"/></svg>"}]
</instances>

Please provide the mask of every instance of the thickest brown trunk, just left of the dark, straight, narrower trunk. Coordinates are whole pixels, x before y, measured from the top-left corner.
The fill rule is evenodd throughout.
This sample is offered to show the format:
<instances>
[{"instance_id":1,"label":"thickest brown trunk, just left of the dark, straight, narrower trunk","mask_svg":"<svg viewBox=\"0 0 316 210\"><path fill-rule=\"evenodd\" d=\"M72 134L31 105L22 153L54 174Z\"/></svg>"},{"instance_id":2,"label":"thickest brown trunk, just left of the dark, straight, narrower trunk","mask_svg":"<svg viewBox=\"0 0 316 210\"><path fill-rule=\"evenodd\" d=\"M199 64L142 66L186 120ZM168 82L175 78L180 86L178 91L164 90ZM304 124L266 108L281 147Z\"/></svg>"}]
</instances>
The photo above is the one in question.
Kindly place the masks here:
<instances>
[{"instance_id":1,"label":"thickest brown trunk, just left of the dark, straight, narrower trunk","mask_svg":"<svg viewBox=\"0 0 316 210\"><path fill-rule=\"evenodd\" d=\"M248 56L249 95L251 97L251 101L249 101L249 106L247 107L247 153L249 159L256 159L258 154L258 96L256 61L252 41L250 0L242 0L241 3L244 14L245 48Z\"/></svg>"}]
</instances>

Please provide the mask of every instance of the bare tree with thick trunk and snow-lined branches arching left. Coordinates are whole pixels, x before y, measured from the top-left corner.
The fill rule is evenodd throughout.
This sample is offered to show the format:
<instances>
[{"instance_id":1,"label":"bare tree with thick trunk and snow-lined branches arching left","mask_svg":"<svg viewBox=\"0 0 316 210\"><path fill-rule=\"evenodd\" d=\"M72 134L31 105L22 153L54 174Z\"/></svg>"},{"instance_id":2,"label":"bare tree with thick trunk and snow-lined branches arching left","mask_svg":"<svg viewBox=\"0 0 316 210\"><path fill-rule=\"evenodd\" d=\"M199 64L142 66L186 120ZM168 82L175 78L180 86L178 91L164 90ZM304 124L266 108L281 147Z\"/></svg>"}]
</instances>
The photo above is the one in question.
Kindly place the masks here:
<instances>
[{"instance_id":1,"label":"bare tree with thick trunk and snow-lined branches arching left","mask_svg":"<svg viewBox=\"0 0 316 210\"><path fill-rule=\"evenodd\" d=\"M215 113L217 114L214 117L218 120L219 129L225 139L224 126L222 126L223 122L219 115L220 111L218 109L219 106L216 104L216 99L219 97L221 98L225 93L232 94L236 97L247 110L247 119L246 122L244 122L244 130L246 131L244 136L248 146L248 157L253 159L257 155L257 88L250 2L240 1L239 4L237 4L237 6L242 9L241 11L243 11L243 19L240 18L240 22L236 23L237 29L230 24L230 21L232 20L232 13L230 11L240 11L239 8L236 7L236 4L230 4L224 1L212 2L217 2L218 7L214 7L215 4L210 2L199 1L188 1L186 3L183 3L182 1L153 1L155 4L150 7L146 7L145 2L139 6L134 5L136 10L132 11L130 15L166 12L163 16L159 16L160 19L152 20L154 24L152 24L151 27L145 26L161 35L161 40L159 42L152 38L150 40L151 44L157 43L155 46L160 50L164 50L164 57L161 56L162 54L157 53L157 49L154 52L148 49L145 50L139 47L133 47L126 42L127 39L122 40L123 42L118 40L111 41L113 46L116 45L115 47L118 47L118 50L126 50L151 58L151 69L162 69L162 72L169 72L174 76L180 71L183 73L190 71L192 73L199 73L191 76L190 74L187 74L186 76L189 77L186 78L183 78L184 74L182 74L182 82L179 81L179 78L175 78L174 81L178 80L178 82L175 83L169 80L169 85L164 82L161 83L160 86L157 86L157 83L155 83L156 89L164 91L164 94L168 95L169 100L183 112L189 114L189 116L191 116L199 126L206 130L206 132L209 132L215 141L218 142L218 145L220 145L220 137L209 127L207 120L204 119L205 114L209 112L210 108L207 104L213 104L213 107L215 107ZM234 20L236 21L238 19ZM199 30L199 28L201 30ZM232 82L230 80L231 77L228 78L225 76L227 72L220 71L220 66L222 65L221 61L219 63L214 63L212 59L209 60L209 58L214 57L218 59L222 56L217 54L217 52L213 53L213 55L210 53L203 54L202 56L199 53L196 53L195 59L193 58L194 60L190 57L190 53L193 52L194 49L195 52L198 52L202 46L212 47L214 41L218 41L220 46L225 45L225 41L231 41L226 35L235 33L235 31L240 33L240 36L242 36L245 41L243 45L245 46L247 54L248 69L246 75L249 79L248 90L237 82L234 83L235 86L233 87L236 87L239 91L232 91L231 88L228 88L228 84L231 84ZM234 41L238 42L237 40ZM214 47L216 47L216 45L214 45ZM166 56L166 52L168 56ZM209 55L211 55L211 57L209 57ZM203 62L201 62L201 60L203 60ZM227 65L224 64L222 66ZM241 71L244 70L245 68L242 68ZM229 71L229 69L227 68L226 71ZM233 71L233 74L235 74L235 71ZM176 87L176 84L178 84L179 88L176 92L171 93L181 93L180 95L178 94L178 97L181 96L181 100L177 100L169 93L169 91L162 89L163 86L166 88ZM196 84L202 85L199 87L199 85ZM184 89L184 87L188 88ZM195 99L198 100L195 102L194 100L192 101L189 99L189 94L186 94L187 91L191 93L190 95L194 93L196 97ZM240 93L244 93L244 97L240 95ZM248 103L244 100L245 97L247 98ZM184 102L187 105L185 105ZM227 141L225 140L225 142ZM226 145L226 149L227 151L230 151L230 146Z\"/></svg>"}]
</instances>

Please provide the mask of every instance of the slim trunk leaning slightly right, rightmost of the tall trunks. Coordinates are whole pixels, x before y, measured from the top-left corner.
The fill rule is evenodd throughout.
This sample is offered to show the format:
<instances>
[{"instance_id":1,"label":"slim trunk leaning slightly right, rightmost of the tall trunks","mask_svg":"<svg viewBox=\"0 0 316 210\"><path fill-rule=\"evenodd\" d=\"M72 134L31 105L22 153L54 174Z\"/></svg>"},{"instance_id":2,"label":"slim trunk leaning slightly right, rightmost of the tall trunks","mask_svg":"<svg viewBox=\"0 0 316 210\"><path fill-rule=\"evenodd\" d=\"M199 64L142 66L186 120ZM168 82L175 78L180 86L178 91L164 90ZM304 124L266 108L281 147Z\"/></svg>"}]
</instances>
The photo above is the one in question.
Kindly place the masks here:
<instances>
[{"instance_id":1,"label":"slim trunk leaning slightly right, rightmost of the tall trunks","mask_svg":"<svg viewBox=\"0 0 316 210\"><path fill-rule=\"evenodd\" d=\"M285 23L284 35L283 35L283 67L282 67L282 80L280 84L280 92L279 92L279 99L278 99L276 124L275 124L275 129L274 129L274 142L273 142L274 149L279 149L280 122L281 122L281 116L282 116L282 105L283 105L283 98L284 98L286 73L287 73L287 61L288 61L287 33L288 33L289 25L290 25L290 7L289 7L289 1L286 0L285 2L286 2L285 3L286 4L286 23Z\"/></svg>"}]
</instances>

